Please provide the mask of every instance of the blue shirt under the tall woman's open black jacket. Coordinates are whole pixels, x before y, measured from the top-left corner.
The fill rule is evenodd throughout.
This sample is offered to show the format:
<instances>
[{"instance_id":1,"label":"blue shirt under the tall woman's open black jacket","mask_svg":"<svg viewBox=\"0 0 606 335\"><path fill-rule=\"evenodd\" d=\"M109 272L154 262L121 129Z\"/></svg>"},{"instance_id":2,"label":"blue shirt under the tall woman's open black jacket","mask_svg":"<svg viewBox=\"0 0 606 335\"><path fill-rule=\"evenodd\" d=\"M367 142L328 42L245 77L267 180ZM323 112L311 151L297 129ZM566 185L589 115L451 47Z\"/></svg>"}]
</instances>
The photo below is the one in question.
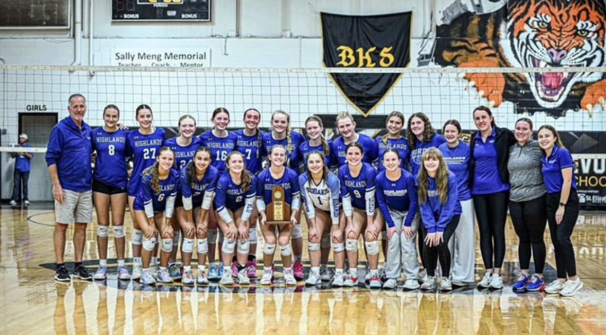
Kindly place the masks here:
<instances>
[{"instance_id":1,"label":"blue shirt under the tall woman's open black jacket","mask_svg":"<svg viewBox=\"0 0 606 335\"><path fill-rule=\"evenodd\" d=\"M476 160L471 189L473 195L493 194L509 189L509 183L504 183L499 175L495 135L496 127L493 127L493 132L486 138L486 142L482 141L481 132L476 134L477 140L473 148L473 158Z\"/></svg>"}]
</instances>

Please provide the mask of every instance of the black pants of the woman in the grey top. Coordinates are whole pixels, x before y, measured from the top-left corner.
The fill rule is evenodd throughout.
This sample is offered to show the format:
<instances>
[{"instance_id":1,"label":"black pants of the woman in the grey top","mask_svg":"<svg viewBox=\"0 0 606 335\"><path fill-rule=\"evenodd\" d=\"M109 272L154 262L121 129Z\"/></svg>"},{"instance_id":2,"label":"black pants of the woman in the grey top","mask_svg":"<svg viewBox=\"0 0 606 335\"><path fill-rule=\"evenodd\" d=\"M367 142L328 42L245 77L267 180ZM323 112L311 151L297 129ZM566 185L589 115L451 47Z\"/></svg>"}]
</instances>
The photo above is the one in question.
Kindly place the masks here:
<instances>
[{"instance_id":1,"label":"black pants of the woman in the grey top","mask_svg":"<svg viewBox=\"0 0 606 335\"><path fill-rule=\"evenodd\" d=\"M530 267L530 255L534 255L534 272L543 273L545 268L545 241L543 234L547 226L547 195L528 201L509 201L509 214L513 228L520 239L518 257L520 269Z\"/></svg>"}]
</instances>

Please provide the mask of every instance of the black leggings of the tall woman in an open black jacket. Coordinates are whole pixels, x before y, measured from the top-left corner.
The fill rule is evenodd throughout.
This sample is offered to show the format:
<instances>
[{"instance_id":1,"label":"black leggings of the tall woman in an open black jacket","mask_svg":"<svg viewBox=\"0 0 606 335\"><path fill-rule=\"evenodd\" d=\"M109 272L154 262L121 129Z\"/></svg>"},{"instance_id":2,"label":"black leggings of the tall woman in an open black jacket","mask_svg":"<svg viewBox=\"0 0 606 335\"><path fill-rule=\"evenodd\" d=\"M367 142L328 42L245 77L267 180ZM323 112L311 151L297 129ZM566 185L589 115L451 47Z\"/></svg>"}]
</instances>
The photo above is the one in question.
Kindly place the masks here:
<instances>
[{"instance_id":1,"label":"black leggings of the tall woman in an open black jacket","mask_svg":"<svg viewBox=\"0 0 606 335\"><path fill-rule=\"evenodd\" d=\"M473 196L473 208L480 228L480 250L487 270L503 266L508 202L509 191Z\"/></svg>"}]
</instances>

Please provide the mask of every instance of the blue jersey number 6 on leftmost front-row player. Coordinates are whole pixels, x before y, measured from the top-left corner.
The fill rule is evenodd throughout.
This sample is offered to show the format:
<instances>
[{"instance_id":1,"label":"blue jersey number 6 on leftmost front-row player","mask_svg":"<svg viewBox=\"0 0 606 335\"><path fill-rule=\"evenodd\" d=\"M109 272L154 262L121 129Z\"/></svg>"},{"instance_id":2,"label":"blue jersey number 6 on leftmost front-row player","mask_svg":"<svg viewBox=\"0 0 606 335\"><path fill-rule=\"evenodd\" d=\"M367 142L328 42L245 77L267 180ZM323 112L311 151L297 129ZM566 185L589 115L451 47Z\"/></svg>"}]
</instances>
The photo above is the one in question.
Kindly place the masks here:
<instances>
[{"instance_id":1,"label":"blue jersey number 6 on leftmost front-row player","mask_svg":"<svg viewBox=\"0 0 606 335\"><path fill-rule=\"evenodd\" d=\"M153 212L166 211L167 213L172 213L172 206L175 205L179 183L179 172L175 169L170 169L168 178L160 180L160 193L156 193L151 189L151 171L148 171L141 178L141 192L135 198L133 208L138 211L145 210L147 217L153 216L153 214L150 216L151 208L153 208ZM170 217L169 215L167 216Z\"/></svg>"}]
</instances>

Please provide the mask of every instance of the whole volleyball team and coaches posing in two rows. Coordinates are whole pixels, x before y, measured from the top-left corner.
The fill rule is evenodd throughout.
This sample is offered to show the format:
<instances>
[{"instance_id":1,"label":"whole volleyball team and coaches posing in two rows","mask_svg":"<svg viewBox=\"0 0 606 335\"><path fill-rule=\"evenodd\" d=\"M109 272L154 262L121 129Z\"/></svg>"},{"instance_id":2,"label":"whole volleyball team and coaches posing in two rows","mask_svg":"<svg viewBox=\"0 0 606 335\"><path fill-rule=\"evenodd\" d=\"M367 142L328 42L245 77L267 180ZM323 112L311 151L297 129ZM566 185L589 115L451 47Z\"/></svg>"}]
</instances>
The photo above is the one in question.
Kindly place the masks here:
<instances>
[{"instance_id":1,"label":"whole volleyball team and coaches posing in two rows","mask_svg":"<svg viewBox=\"0 0 606 335\"><path fill-rule=\"evenodd\" d=\"M493 110L477 106L469 110L477 131L466 143L458 120L432 124L431 113L402 110L385 117L385 135L371 138L356 132L349 112L335 111L331 141L325 130L332 125L316 115L305 119L306 138L291 129L287 110L261 120L249 108L244 128L234 131L233 111L217 107L212 129L196 135L197 120L185 114L175 120L178 136L166 138L151 104L136 107L139 127L128 130L119 106L108 102L103 126L92 129L85 96L65 98L69 115L53 127L45 154L58 281L105 280L114 276L108 259L115 257L118 280L149 286L324 282L448 292L473 285L560 296L583 286L570 239L580 209L574 161L550 124L525 117L496 124ZM501 275L508 214L519 239L512 282ZM479 281L476 222L485 269ZM92 225L99 265L89 272L83 258ZM547 226L557 271L551 282L543 276ZM73 269L64 259L68 228ZM110 236L115 255L108 254Z\"/></svg>"}]
</instances>

